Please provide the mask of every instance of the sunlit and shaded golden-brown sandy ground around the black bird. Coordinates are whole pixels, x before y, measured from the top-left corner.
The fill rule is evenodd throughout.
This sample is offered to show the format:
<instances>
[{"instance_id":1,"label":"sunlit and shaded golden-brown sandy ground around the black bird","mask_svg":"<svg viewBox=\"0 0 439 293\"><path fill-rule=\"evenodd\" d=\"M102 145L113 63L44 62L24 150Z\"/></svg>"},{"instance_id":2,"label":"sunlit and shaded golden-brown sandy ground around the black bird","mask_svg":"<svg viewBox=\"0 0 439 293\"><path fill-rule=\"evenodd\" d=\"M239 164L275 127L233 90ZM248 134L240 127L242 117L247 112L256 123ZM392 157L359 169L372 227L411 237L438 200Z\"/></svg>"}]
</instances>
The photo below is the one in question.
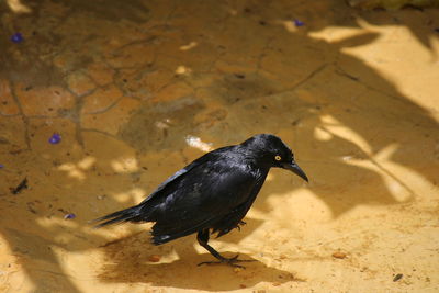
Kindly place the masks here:
<instances>
[{"instance_id":1,"label":"sunlit and shaded golden-brown sandy ground around the black bird","mask_svg":"<svg viewBox=\"0 0 439 293\"><path fill-rule=\"evenodd\" d=\"M439 292L438 10L8 2L1 292ZM247 225L212 240L245 270L198 267L212 257L193 236L88 225L257 133L311 182L272 170Z\"/></svg>"}]
</instances>

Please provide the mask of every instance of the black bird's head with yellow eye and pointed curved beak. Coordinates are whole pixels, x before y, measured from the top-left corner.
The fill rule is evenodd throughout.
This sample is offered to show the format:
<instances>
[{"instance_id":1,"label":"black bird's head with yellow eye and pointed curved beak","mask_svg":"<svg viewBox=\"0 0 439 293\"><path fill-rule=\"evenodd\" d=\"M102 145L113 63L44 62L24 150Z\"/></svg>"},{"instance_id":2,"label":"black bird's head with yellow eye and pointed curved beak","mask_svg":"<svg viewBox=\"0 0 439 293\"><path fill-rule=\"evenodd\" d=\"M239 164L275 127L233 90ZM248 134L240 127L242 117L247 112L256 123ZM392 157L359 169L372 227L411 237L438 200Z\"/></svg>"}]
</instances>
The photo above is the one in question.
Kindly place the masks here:
<instances>
[{"instance_id":1,"label":"black bird's head with yellow eye and pointed curved beak","mask_svg":"<svg viewBox=\"0 0 439 293\"><path fill-rule=\"evenodd\" d=\"M306 182L308 178L294 160L294 154L285 143L272 134L258 134L241 144L261 164L290 170Z\"/></svg>"}]
</instances>

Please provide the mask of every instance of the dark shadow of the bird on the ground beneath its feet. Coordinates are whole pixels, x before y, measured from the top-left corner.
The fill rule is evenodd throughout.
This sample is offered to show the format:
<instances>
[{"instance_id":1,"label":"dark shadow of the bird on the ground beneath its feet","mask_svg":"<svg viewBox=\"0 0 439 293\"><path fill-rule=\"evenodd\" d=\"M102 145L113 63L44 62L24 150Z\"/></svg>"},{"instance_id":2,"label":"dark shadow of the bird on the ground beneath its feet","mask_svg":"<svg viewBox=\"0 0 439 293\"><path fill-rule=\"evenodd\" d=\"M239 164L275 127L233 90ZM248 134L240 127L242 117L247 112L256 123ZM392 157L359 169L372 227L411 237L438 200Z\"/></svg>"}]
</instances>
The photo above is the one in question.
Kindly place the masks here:
<instances>
[{"instance_id":1,"label":"dark shadow of the bird on the ground beneath its feet","mask_svg":"<svg viewBox=\"0 0 439 293\"><path fill-rule=\"evenodd\" d=\"M210 253L198 253L194 237L189 236L162 246L150 244L147 233L133 234L101 246L106 264L98 278L109 283L146 283L154 286L228 291L251 288L261 282L275 285L302 281L293 273L268 267L260 260L239 253L245 269L226 264L203 264L215 260ZM236 252L221 251L225 257ZM181 256L181 257L180 257Z\"/></svg>"}]
</instances>

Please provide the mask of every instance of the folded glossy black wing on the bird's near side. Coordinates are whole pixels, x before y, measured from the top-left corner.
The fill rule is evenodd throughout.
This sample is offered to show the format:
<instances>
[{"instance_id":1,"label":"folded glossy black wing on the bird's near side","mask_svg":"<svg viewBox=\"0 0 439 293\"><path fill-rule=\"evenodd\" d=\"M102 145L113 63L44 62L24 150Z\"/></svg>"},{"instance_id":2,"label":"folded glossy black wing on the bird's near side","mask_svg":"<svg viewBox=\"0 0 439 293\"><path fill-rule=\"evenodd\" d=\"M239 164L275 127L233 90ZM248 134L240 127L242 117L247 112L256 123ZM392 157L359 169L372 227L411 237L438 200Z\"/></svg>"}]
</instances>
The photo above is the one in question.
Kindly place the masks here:
<instances>
[{"instance_id":1,"label":"folded glossy black wing on the bird's near side","mask_svg":"<svg viewBox=\"0 0 439 293\"><path fill-rule=\"evenodd\" d=\"M255 185L262 177L239 159L218 156L192 167L172 182L172 190L155 195L154 212L148 221L155 244L211 228L225 215L256 196ZM259 191L259 189L258 189ZM251 200L252 202L252 200ZM248 210L248 209L247 209Z\"/></svg>"}]
</instances>

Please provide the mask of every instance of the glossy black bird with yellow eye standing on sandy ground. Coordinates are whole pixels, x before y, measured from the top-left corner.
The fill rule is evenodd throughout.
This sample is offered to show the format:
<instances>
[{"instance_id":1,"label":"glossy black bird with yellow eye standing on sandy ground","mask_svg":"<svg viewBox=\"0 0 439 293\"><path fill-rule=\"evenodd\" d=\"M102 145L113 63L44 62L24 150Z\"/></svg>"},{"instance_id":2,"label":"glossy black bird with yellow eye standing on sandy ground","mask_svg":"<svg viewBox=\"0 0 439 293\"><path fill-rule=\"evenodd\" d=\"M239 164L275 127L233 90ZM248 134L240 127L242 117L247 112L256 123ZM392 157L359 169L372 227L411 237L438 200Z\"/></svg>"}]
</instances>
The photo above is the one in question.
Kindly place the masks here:
<instances>
[{"instance_id":1,"label":"glossy black bird with yellow eye standing on sandy ground","mask_svg":"<svg viewBox=\"0 0 439 293\"><path fill-rule=\"evenodd\" d=\"M203 155L161 183L138 205L94 222L95 227L122 222L155 222L153 243L161 245L198 233L199 244L218 261L235 267L239 260L225 258L207 241L239 225L259 193L271 167L293 171L308 181L294 161L291 149L277 136L259 134L240 145L226 146Z\"/></svg>"}]
</instances>

